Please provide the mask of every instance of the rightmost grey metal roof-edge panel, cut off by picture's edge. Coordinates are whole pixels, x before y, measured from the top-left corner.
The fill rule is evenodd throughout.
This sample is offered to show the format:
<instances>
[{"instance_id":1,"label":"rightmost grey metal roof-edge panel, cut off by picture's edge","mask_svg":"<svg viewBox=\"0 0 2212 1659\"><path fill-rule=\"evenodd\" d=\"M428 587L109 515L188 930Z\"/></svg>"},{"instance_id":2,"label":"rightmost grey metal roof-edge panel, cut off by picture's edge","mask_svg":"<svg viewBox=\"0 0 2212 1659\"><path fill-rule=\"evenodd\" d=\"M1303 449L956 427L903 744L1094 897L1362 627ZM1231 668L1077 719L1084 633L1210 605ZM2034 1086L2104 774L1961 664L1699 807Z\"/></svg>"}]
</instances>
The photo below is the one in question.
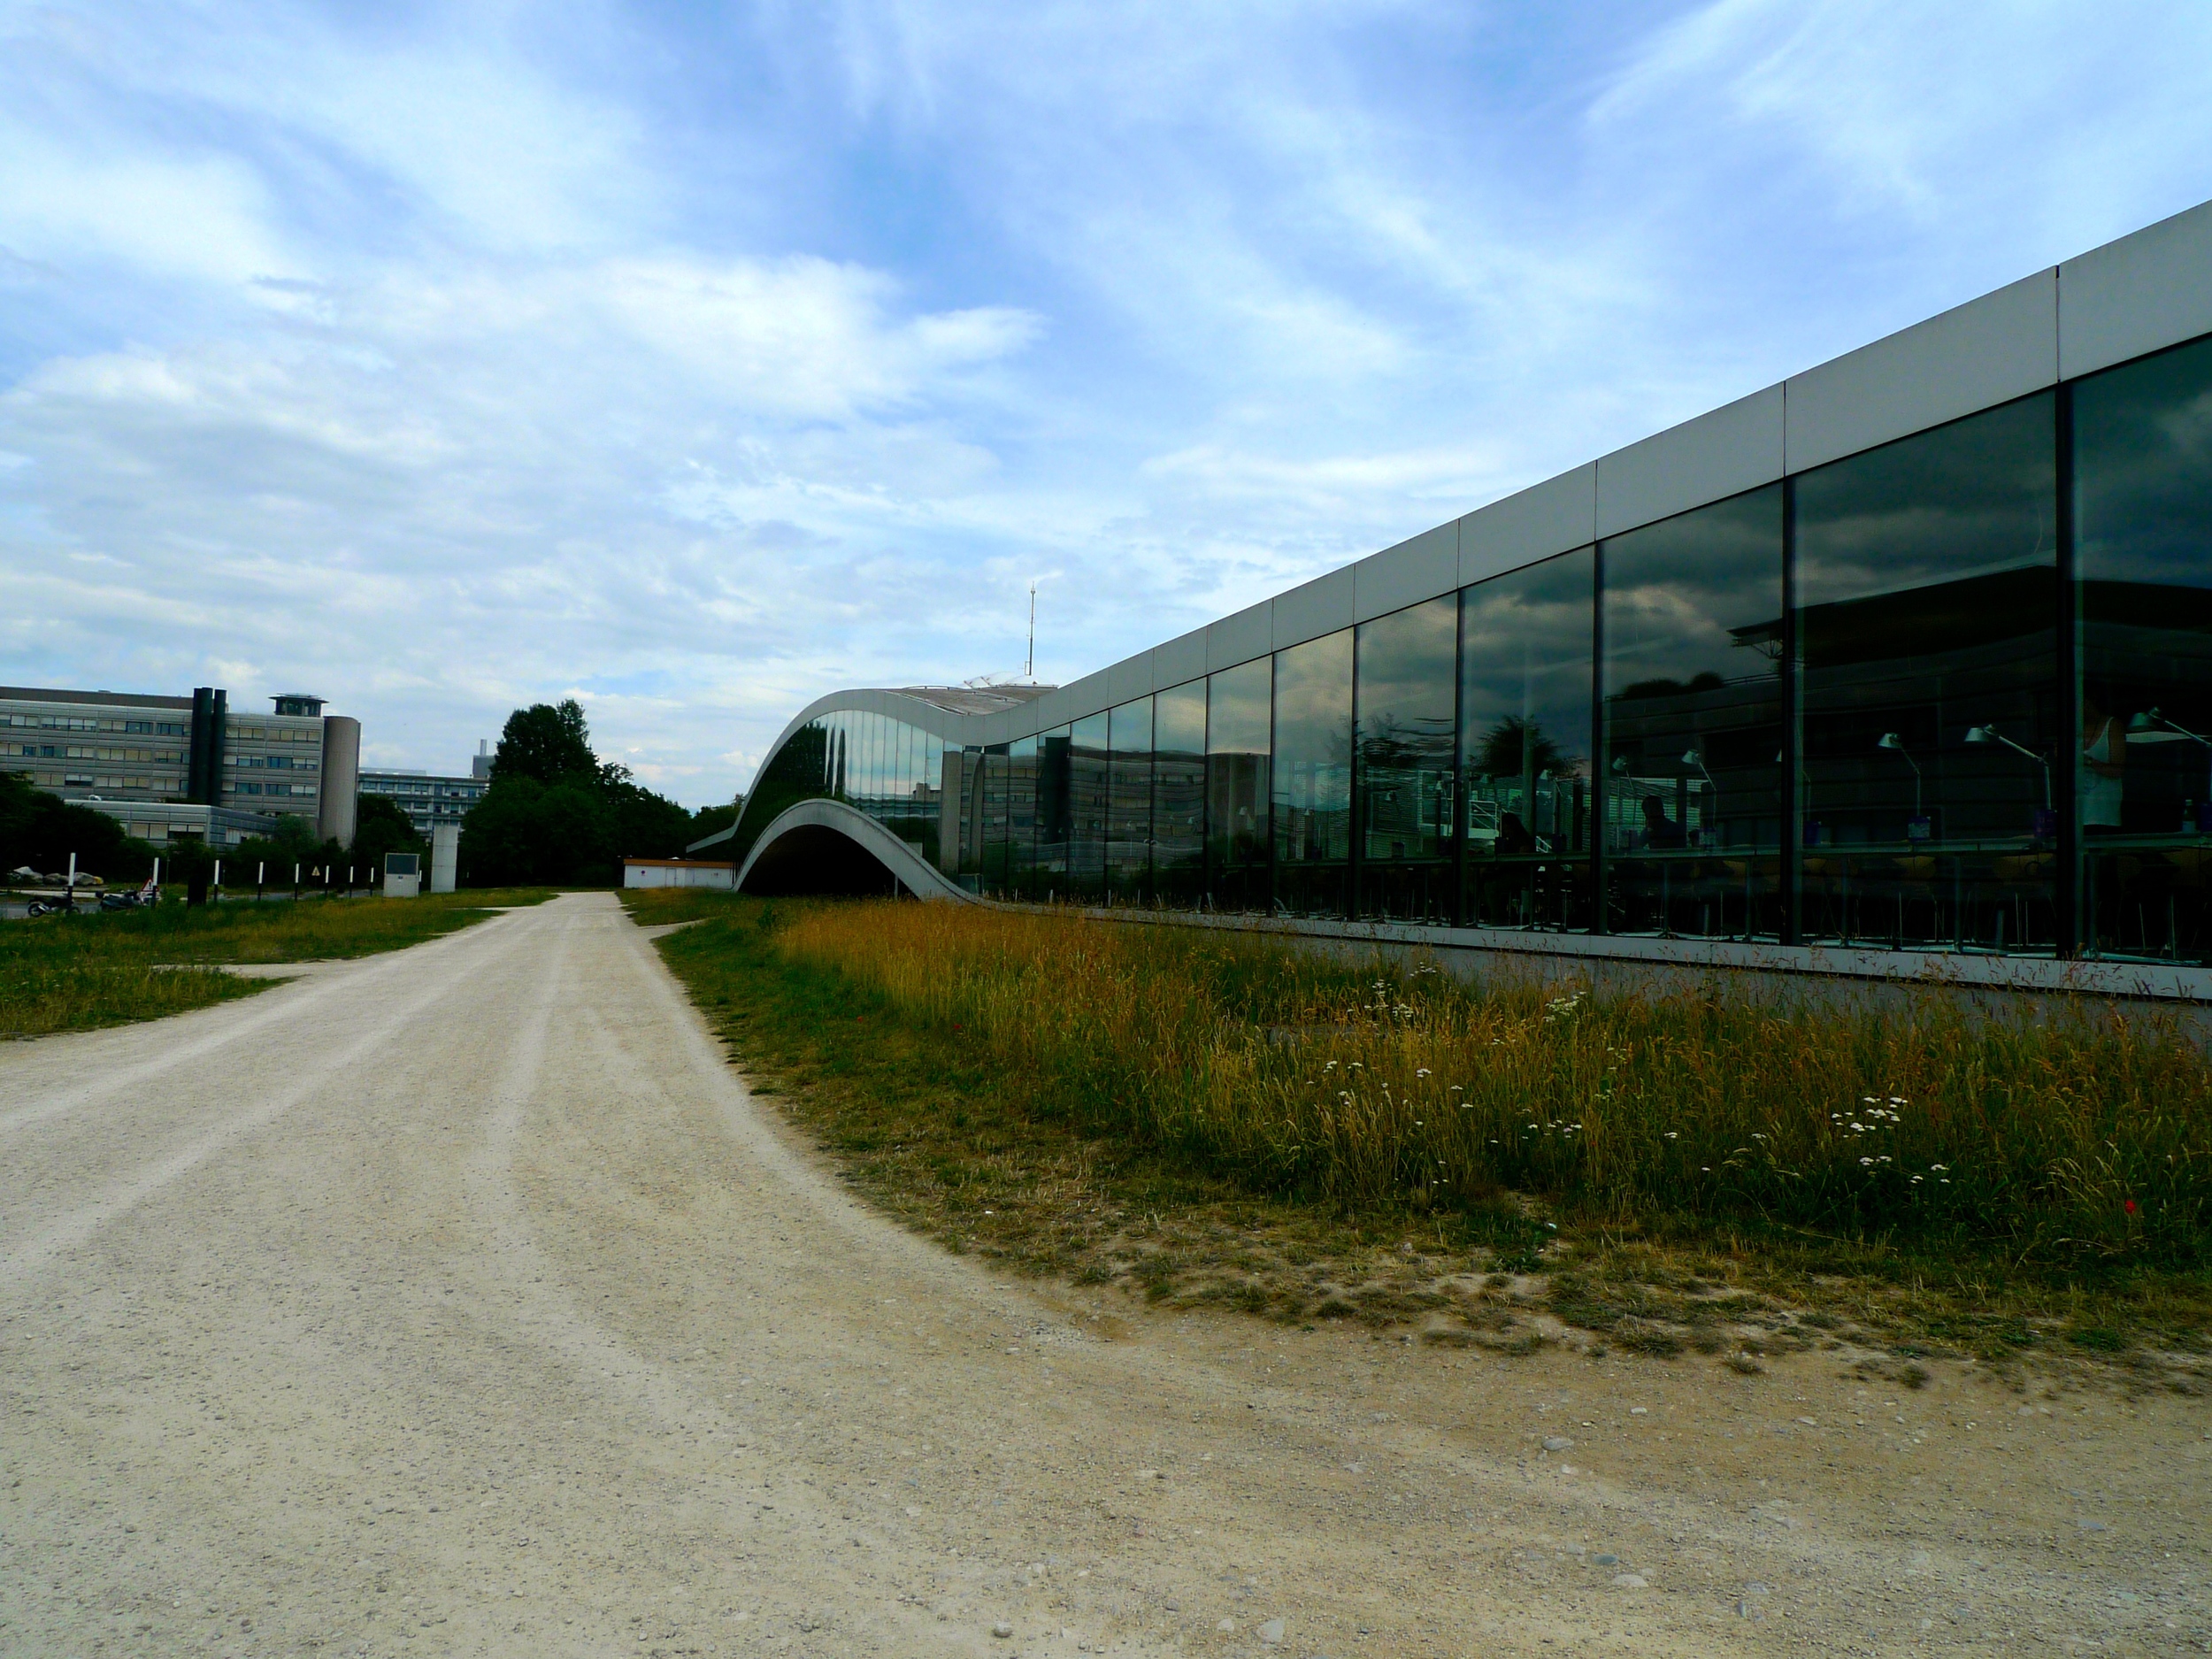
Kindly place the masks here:
<instances>
[{"instance_id":1,"label":"rightmost grey metal roof-edge panel, cut off by picture's edge","mask_svg":"<svg viewBox=\"0 0 2212 1659\"><path fill-rule=\"evenodd\" d=\"M2059 374L2212 334L2212 201L2059 265Z\"/></svg>"}]
</instances>

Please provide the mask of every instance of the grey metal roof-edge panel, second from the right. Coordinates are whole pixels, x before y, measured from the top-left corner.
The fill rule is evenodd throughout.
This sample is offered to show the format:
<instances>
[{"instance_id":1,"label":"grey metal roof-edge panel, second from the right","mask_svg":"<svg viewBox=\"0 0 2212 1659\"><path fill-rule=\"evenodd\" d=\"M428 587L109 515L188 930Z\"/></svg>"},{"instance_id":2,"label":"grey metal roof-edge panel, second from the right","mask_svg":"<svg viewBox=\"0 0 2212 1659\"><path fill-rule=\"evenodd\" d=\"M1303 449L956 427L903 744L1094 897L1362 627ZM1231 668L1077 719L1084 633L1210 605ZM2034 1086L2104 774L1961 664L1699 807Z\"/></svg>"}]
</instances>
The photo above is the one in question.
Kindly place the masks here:
<instances>
[{"instance_id":1,"label":"grey metal roof-edge panel, second from the right","mask_svg":"<svg viewBox=\"0 0 2212 1659\"><path fill-rule=\"evenodd\" d=\"M2057 270L2039 270L1792 376L1790 471L1843 460L2053 385L2059 374L2057 307Z\"/></svg>"}]
</instances>

